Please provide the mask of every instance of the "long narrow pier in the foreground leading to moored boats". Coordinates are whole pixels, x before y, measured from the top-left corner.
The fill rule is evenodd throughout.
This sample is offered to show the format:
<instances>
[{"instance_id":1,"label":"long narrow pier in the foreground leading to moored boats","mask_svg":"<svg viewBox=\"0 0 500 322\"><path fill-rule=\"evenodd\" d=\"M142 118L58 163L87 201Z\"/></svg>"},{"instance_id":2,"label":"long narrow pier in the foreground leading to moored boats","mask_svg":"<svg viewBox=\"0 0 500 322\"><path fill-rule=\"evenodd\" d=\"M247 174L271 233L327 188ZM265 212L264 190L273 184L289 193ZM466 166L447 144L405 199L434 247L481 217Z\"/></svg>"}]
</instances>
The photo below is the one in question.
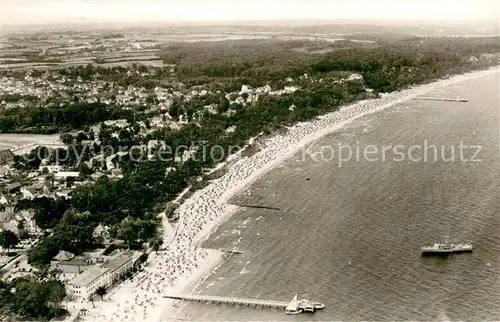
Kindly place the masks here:
<instances>
[{"instance_id":1,"label":"long narrow pier in the foreground leading to moored boats","mask_svg":"<svg viewBox=\"0 0 500 322\"><path fill-rule=\"evenodd\" d=\"M227 304L227 305L238 305L238 306L251 306L251 307L262 307L262 308L274 308L274 309L286 309L288 302L284 301L270 301L270 300L259 300L259 299L242 299L235 297L221 297L221 296L210 296L210 295L163 295L164 298L173 300L182 300L190 302L202 302L202 303L215 303L215 304Z\"/></svg>"}]
</instances>

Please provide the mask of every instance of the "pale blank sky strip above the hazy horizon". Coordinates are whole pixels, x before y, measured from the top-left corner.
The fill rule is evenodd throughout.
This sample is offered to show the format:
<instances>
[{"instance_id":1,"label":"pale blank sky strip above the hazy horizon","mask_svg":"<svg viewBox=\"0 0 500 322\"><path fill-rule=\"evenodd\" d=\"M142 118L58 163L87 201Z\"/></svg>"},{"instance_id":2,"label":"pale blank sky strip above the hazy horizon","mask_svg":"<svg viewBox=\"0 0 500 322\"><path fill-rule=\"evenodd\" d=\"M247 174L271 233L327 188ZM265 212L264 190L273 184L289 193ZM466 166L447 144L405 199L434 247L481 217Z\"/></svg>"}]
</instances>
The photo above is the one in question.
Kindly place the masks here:
<instances>
[{"instance_id":1,"label":"pale blank sky strip above the hazy horizon","mask_svg":"<svg viewBox=\"0 0 500 322\"><path fill-rule=\"evenodd\" d=\"M0 0L0 24L500 20L500 0Z\"/></svg>"}]
</instances>

